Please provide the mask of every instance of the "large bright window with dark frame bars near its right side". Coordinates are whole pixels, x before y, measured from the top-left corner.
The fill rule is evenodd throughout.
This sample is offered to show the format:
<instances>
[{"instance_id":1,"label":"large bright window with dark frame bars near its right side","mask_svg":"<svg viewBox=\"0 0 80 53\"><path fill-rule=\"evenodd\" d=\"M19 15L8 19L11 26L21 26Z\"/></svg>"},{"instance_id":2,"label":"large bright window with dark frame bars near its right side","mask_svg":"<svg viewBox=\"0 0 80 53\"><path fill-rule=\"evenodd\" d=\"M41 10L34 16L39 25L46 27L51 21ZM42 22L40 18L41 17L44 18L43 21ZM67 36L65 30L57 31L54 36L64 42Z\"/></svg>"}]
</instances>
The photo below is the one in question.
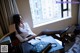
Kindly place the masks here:
<instances>
[{"instance_id":1,"label":"large bright window with dark frame bars near its right side","mask_svg":"<svg viewBox=\"0 0 80 53\"><path fill-rule=\"evenodd\" d=\"M68 3L70 1L29 0L33 26L37 27L71 17L71 4Z\"/></svg>"}]
</instances>

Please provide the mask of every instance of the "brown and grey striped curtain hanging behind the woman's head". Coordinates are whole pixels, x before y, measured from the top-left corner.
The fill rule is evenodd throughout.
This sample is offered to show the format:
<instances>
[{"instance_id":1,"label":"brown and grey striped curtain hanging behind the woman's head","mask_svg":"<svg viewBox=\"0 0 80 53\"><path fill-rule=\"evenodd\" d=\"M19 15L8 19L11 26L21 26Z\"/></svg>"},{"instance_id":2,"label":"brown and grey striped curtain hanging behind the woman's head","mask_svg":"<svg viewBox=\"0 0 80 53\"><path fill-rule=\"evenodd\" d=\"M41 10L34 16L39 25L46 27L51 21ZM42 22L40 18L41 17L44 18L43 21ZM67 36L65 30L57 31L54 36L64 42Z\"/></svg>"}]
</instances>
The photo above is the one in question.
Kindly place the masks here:
<instances>
[{"instance_id":1,"label":"brown and grey striped curtain hanging behind the woman's head","mask_svg":"<svg viewBox=\"0 0 80 53\"><path fill-rule=\"evenodd\" d=\"M9 32L9 25L13 23L12 16L19 14L15 0L0 0L0 26L3 34Z\"/></svg>"}]
</instances>

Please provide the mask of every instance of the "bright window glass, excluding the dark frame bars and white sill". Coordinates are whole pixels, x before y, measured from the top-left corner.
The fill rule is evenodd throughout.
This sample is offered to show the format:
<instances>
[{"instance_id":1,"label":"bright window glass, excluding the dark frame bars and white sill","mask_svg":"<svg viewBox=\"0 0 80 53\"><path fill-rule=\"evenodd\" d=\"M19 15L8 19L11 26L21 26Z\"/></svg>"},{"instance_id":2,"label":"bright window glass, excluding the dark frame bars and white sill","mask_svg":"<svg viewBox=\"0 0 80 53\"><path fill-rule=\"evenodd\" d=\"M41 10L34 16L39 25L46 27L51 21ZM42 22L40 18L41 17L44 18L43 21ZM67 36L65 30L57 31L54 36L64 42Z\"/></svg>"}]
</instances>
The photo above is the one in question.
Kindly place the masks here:
<instances>
[{"instance_id":1,"label":"bright window glass, excluding the dark frame bars and white sill","mask_svg":"<svg viewBox=\"0 0 80 53\"><path fill-rule=\"evenodd\" d=\"M61 3L56 3L56 1L60 0L29 0L33 25L39 25L62 18ZM64 5L64 8L66 7ZM66 11L63 12L63 14L64 17L67 16Z\"/></svg>"}]
</instances>

